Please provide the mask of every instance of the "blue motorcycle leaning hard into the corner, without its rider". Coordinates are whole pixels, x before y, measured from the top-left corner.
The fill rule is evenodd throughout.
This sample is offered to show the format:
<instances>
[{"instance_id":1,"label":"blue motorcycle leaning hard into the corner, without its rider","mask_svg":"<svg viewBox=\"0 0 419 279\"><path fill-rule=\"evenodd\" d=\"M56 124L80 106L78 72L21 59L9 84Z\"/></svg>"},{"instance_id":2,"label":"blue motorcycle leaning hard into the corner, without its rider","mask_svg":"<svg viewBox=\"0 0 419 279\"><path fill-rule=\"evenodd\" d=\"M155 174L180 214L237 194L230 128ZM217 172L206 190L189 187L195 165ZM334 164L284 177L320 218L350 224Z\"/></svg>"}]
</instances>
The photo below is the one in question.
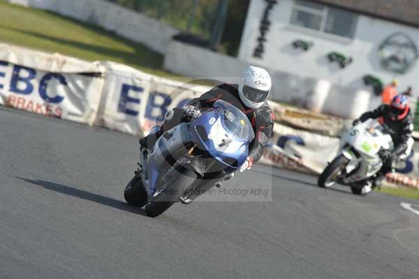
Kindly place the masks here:
<instances>
[{"instance_id":1,"label":"blue motorcycle leaning hard into the corner, without its rider","mask_svg":"<svg viewBox=\"0 0 419 279\"><path fill-rule=\"evenodd\" d=\"M166 131L151 150L140 150L140 167L124 190L126 202L156 217L178 201L196 199L240 169L254 136L240 109L216 101L196 119Z\"/></svg>"}]
</instances>

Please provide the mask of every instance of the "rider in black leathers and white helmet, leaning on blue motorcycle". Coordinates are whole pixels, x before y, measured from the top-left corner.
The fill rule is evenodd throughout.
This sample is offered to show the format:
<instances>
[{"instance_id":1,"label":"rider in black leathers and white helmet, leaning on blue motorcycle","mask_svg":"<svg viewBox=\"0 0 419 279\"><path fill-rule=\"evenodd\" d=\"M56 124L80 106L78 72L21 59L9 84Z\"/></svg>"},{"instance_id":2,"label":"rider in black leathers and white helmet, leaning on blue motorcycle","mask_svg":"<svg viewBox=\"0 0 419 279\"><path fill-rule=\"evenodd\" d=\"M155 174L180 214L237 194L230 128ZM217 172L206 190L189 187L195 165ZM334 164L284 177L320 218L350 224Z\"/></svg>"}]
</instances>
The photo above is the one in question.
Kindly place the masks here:
<instances>
[{"instance_id":1,"label":"rider in black leathers and white helmet, leaning on blue motorcycle","mask_svg":"<svg viewBox=\"0 0 419 279\"><path fill-rule=\"evenodd\" d=\"M269 73L264 69L249 66L244 71L240 85L228 85L226 83L214 87L199 98L189 101L185 110L175 108L169 111L170 117L166 117L161 129L156 134L140 139L143 147L150 148L154 145L164 131L175 127L182 121L183 115L198 117L201 110L212 108L215 101L222 99L240 108L247 115L252 124L255 138L249 145L249 156L240 171L250 169L254 162L257 162L263 155L263 149L272 138L274 120L272 110L267 104L267 96L271 90Z\"/></svg>"}]
</instances>

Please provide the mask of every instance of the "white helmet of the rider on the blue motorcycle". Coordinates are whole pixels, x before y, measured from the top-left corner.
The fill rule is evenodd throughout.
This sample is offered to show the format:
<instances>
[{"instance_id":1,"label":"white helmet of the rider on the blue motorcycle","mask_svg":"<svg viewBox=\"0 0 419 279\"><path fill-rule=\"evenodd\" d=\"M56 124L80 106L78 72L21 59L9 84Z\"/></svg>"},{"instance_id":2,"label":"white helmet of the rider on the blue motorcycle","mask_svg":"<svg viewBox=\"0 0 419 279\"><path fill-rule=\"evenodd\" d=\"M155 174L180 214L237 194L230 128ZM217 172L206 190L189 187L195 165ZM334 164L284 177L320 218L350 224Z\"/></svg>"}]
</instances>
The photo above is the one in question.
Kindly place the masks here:
<instances>
[{"instance_id":1,"label":"white helmet of the rider on the blue motorcycle","mask_svg":"<svg viewBox=\"0 0 419 279\"><path fill-rule=\"evenodd\" d=\"M249 108L260 108L267 100L271 87L271 78L265 69L248 66L240 78L240 99Z\"/></svg>"}]
</instances>

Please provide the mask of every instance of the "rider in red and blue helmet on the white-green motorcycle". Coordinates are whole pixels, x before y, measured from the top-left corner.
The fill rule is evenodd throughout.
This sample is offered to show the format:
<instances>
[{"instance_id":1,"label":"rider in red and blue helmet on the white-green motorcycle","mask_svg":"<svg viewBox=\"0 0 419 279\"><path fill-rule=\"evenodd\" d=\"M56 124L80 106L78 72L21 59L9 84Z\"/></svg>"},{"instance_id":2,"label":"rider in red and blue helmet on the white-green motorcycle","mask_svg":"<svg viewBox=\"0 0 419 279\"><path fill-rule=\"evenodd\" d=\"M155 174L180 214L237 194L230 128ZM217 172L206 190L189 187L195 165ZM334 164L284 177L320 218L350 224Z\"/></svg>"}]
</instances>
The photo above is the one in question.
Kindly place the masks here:
<instances>
[{"instance_id":1,"label":"rider in red and blue helmet on the white-green motorcycle","mask_svg":"<svg viewBox=\"0 0 419 279\"><path fill-rule=\"evenodd\" d=\"M385 124L388 128L395 148L390 152L388 150L381 150L380 156L383 160L383 167L379 171L375 185L379 185L385 175L392 171L392 163L397 157L406 152L409 138L413 131L413 117L409 107L409 100L406 96L395 96L390 105L382 105L373 111L369 111L361 115L359 120L355 120L353 124L359 121L364 122L369 118L380 118L380 122Z\"/></svg>"}]
</instances>

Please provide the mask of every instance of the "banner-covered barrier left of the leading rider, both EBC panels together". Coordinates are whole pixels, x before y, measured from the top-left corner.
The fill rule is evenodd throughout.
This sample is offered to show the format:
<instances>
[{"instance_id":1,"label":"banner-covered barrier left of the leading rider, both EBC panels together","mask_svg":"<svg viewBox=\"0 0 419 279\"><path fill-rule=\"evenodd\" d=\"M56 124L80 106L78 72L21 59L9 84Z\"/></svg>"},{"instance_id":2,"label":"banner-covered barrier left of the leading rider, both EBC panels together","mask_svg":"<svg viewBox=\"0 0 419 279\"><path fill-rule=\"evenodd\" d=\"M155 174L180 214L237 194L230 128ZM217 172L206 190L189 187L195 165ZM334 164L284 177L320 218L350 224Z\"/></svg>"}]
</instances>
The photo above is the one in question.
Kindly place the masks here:
<instances>
[{"instance_id":1,"label":"banner-covered barrier left of the leading rider, both EBC panels together","mask_svg":"<svg viewBox=\"0 0 419 279\"><path fill-rule=\"evenodd\" d=\"M0 105L144 136L173 106L210 87L112 62L0 45ZM105 78L103 78L105 77Z\"/></svg>"}]
</instances>

